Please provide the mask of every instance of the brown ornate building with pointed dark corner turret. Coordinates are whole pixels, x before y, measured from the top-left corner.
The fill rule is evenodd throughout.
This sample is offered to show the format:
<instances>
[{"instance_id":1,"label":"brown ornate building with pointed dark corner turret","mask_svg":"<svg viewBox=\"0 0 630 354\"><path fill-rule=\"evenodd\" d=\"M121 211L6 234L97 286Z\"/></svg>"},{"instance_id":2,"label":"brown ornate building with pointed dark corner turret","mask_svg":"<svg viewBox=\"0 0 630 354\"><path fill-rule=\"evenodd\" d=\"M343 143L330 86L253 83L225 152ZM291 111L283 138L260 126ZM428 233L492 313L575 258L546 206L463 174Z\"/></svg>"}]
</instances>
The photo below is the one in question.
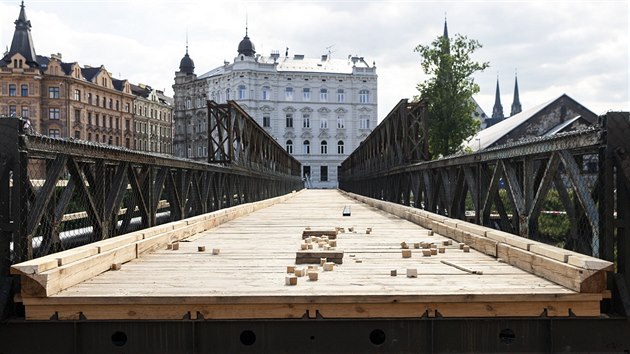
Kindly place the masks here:
<instances>
[{"instance_id":1,"label":"brown ornate building with pointed dark corner turret","mask_svg":"<svg viewBox=\"0 0 630 354\"><path fill-rule=\"evenodd\" d=\"M37 55L24 3L15 21L11 48L0 60L0 85L0 115L28 119L35 133L136 148L133 108L146 97L134 95L127 80L112 77L102 65L67 63L59 53ZM159 109L148 112L157 117L152 126L159 126L156 131L164 134L156 134L156 140L143 136L147 148L142 150L170 152L171 143L165 141L172 130L170 105L160 102L168 101L163 94L154 95ZM147 97L153 102L151 95ZM159 142L155 145L159 147L150 150L151 142Z\"/></svg>"}]
</instances>

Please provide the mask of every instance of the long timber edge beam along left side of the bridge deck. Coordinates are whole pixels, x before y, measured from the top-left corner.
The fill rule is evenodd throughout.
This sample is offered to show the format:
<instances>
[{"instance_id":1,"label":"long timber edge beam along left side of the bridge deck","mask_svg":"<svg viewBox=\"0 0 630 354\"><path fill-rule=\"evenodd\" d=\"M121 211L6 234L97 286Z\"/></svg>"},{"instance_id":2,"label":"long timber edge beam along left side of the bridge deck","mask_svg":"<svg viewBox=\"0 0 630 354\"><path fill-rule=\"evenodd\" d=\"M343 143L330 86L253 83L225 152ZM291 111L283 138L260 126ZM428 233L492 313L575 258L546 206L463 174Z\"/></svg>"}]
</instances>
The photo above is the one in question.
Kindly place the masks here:
<instances>
[{"instance_id":1,"label":"long timber edge beam along left side of the bridge deck","mask_svg":"<svg viewBox=\"0 0 630 354\"><path fill-rule=\"evenodd\" d=\"M166 249L173 242L284 202L295 195L294 191L32 259L11 266L11 274L21 276L22 298L51 296L110 270L112 264L124 264L143 254Z\"/></svg>"}]
</instances>

